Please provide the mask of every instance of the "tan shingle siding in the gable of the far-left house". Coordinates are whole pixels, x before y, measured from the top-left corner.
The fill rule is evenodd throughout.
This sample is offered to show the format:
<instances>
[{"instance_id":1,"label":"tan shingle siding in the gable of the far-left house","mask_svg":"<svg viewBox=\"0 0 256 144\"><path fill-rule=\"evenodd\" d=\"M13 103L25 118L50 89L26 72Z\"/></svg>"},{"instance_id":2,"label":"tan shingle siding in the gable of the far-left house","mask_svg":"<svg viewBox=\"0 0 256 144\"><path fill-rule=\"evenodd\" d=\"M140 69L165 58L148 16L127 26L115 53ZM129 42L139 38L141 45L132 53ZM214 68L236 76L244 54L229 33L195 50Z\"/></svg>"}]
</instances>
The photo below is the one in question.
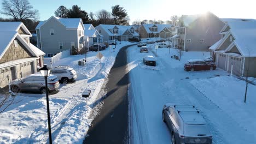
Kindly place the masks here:
<instances>
[{"instance_id":1,"label":"tan shingle siding in the gable of the far-left house","mask_svg":"<svg viewBox=\"0 0 256 144\"><path fill-rule=\"evenodd\" d=\"M3 57L0 59L0 63L14 61L21 58L33 57L30 52L25 48L24 45L18 39L18 47L14 46L14 41L9 46L8 50L4 53Z\"/></svg>"}]
</instances>

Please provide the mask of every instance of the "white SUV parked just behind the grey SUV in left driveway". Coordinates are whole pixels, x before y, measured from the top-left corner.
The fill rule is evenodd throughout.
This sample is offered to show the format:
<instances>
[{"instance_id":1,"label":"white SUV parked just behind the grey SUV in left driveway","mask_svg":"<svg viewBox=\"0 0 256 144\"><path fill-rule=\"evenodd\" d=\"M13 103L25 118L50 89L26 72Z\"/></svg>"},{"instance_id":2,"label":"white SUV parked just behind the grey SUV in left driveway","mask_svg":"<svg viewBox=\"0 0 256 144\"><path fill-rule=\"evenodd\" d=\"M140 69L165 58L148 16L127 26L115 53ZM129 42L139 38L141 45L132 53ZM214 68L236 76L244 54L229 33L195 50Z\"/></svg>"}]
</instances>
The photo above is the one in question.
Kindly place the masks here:
<instances>
[{"instance_id":1,"label":"white SUV parked just behind the grey SUV in left driveway","mask_svg":"<svg viewBox=\"0 0 256 144\"><path fill-rule=\"evenodd\" d=\"M61 83L68 83L77 79L77 72L68 65L59 65L51 70L51 74L56 75Z\"/></svg>"}]
</instances>

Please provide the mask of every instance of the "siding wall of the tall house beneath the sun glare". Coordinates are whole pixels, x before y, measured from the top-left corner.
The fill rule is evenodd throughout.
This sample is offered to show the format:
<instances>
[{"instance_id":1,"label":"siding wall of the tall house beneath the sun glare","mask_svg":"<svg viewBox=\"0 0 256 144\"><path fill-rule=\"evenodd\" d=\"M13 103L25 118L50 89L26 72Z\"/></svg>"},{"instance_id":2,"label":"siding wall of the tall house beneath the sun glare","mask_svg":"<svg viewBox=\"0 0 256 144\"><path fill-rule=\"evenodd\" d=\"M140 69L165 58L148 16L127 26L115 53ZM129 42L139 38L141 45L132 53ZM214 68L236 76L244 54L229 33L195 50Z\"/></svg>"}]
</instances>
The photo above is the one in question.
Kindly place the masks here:
<instances>
[{"instance_id":1,"label":"siding wall of the tall house beneath the sun glare","mask_svg":"<svg viewBox=\"0 0 256 144\"><path fill-rule=\"evenodd\" d=\"M185 32L185 50L208 51L211 45L222 38L219 32L223 26L224 22L213 14L207 14L206 17L202 16L190 23ZM187 39L191 39L191 42L188 43ZM200 42L200 39L204 39L204 42Z\"/></svg>"}]
</instances>

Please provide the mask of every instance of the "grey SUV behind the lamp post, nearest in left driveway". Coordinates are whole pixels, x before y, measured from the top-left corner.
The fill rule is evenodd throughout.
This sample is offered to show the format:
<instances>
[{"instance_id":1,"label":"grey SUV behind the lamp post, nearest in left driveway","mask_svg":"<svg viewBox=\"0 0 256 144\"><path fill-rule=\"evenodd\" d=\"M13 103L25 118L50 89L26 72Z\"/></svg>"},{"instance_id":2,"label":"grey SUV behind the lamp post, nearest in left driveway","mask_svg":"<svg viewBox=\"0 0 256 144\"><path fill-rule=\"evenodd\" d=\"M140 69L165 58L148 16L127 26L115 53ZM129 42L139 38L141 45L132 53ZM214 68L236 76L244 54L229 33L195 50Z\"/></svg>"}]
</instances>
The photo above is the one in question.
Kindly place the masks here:
<instances>
[{"instance_id":1,"label":"grey SUV behind the lamp post, nearest in left driveway","mask_svg":"<svg viewBox=\"0 0 256 144\"><path fill-rule=\"evenodd\" d=\"M59 89L60 83L56 75L49 75L48 80L48 91L55 91ZM22 77L19 80L14 80L10 83L10 89L12 92L40 92L46 93L45 79L40 73L31 74L26 77Z\"/></svg>"}]
</instances>

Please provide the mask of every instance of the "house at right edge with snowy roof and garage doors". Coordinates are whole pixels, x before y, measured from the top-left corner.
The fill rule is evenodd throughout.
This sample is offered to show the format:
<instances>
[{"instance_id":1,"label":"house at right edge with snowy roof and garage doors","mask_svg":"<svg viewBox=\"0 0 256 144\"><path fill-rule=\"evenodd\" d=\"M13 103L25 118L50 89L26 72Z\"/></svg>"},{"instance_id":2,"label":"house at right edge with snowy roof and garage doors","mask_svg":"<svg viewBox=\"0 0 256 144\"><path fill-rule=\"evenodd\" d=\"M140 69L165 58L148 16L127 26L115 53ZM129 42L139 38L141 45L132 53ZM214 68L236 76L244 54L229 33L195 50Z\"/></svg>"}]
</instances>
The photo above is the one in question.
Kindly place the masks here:
<instances>
[{"instance_id":1,"label":"house at right edge with snowy roof and garage doors","mask_svg":"<svg viewBox=\"0 0 256 144\"><path fill-rule=\"evenodd\" d=\"M220 33L223 38L213 47L217 67L256 77L256 21L228 21Z\"/></svg>"}]
</instances>

